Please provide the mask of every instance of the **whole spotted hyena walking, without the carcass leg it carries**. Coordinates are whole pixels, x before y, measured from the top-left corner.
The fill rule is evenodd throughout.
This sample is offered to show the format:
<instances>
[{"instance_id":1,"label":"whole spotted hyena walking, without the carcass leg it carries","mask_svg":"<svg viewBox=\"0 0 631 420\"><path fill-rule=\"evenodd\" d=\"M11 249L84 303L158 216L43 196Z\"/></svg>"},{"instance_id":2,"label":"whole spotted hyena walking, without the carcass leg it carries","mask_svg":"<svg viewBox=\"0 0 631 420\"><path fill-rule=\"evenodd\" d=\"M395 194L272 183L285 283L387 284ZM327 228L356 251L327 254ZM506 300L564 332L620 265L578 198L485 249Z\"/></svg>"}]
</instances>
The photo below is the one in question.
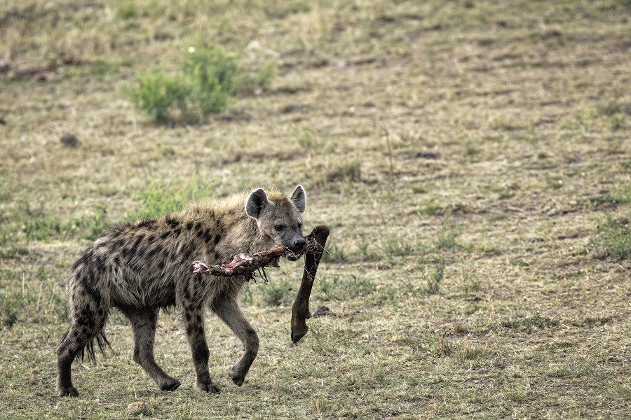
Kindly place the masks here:
<instances>
[{"instance_id":1,"label":"whole spotted hyena walking, without the carcass leg it carries","mask_svg":"<svg viewBox=\"0 0 631 420\"><path fill-rule=\"evenodd\" d=\"M116 307L131 322L134 360L163 390L179 381L154 359L154 337L160 308L182 312L191 346L196 387L220 391L208 372L208 344L204 312L210 308L243 342L245 351L232 368L240 386L259 349L259 338L237 297L243 277L194 274L192 262L226 262L237 253L255 253L282 245L292 251L304 247L302 217L306 195L297 186L287 197L262 188L157 219L126 223L97 239L72 265L69 284L70 326L57 348L57 393L79 395L70 368L75 358L95 357L109 342L104 335L110 309Z\"/></svg>"}]
</instances>

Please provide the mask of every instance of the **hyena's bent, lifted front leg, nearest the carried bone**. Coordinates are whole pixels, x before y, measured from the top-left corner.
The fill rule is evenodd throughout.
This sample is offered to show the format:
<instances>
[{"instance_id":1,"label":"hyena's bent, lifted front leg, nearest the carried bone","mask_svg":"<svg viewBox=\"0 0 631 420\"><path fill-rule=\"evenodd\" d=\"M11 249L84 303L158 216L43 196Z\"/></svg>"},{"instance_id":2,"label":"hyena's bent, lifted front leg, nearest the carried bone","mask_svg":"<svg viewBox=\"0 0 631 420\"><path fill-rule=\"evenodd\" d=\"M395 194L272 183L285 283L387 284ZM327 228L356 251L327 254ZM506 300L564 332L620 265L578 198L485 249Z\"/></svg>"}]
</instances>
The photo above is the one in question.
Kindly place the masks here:
<instances>
[{"instance_id":1,"label":"hyena's bent, lifted front leg, nearest the carried bone","mask_svg":"<svg viewBox=\"0 0 631 420\"><path fill-rule=\"evenodd\" d=\"M236 297L226 296L224 299L216 300L212 304L212 310L230 327L237 337L243 342L243 356L232 367L232 381L237 385L243 385L245 375L250 370L259 352L259 337L252 328L243 312L239 308Z\"/></svg>"}]
</instances>

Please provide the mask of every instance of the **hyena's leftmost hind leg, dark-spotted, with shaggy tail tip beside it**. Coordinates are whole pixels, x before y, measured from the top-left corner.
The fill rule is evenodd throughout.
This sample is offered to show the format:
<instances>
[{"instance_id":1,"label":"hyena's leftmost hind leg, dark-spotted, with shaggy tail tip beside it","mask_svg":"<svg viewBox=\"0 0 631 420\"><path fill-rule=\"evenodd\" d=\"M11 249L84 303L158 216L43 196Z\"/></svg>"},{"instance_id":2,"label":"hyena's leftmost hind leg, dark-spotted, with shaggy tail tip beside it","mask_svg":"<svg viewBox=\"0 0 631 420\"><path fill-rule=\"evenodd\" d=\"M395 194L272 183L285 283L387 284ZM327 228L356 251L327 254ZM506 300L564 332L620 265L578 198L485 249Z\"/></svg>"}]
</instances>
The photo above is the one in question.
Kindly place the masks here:
<instances>
[{"instance_id":1,"label":"hyena's leftmost hind leg, dark-spotted, with shaggy tail tip beside it","mask_svg":"<svg viewBox=\"0 0 631 420\"><path fill-rule=\"evenodd\" d=\"M84 302L83 308L74 308L70 327L57 347L57 394L60 397L76 397L79 391L72 384L72 362L78 356L94 359L94 342L104 351L109 342L103 328L107 321L108 310L94 300Z\"/></svg>"}]
</instances>

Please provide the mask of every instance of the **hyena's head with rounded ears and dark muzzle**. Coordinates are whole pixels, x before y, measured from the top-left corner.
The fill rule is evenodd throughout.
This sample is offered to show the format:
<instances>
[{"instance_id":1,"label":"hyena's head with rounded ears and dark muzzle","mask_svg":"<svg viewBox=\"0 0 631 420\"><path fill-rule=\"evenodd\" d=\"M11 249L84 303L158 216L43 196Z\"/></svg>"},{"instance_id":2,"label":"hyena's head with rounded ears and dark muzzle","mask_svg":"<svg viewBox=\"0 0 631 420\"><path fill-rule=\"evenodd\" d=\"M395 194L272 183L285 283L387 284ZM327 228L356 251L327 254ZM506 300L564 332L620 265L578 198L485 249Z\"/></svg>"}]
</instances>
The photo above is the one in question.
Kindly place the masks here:
<instances>
[{"instance_id":1,"label":"hyena's head with rounded ears and dark muzzle","mask_svg":"<svg viewBox=\"0 0 631 420\"><path fill-rule=\"evenodd\" d=\"M262 234L294 252L302 251L306 243L302 236L304 209L306 195L302 186L297 186L290 197L278 191L267 195L259 188L252 191L245 202L245 212L257 220Z\"/></svg>"}]
</instances>

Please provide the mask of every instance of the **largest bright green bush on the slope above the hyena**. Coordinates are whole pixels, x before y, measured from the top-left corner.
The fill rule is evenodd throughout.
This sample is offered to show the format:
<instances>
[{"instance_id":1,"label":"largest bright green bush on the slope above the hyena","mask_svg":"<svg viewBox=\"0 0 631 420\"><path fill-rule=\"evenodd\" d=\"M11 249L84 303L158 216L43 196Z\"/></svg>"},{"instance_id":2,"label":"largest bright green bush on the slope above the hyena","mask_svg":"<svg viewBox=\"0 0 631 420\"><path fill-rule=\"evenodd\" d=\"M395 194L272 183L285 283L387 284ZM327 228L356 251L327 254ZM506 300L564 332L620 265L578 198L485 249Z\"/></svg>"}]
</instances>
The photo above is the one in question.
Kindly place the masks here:
<instances>
[{"instance_id":1,"label":"largest bright green bush on the slope above the hyena","mask_svg":"<svg viewBox=\"0 0 631 420\"><path fill-rule=\"evenodd\" d=\"M238 55L218 46L189 48L179 73L158 67L140 73L139 83L125 91L136 109L160 123L197 123L222 113L240 87L269 83L276 67L268 63L255 77L238 68Z\"/></svg>"}]
</instances>

